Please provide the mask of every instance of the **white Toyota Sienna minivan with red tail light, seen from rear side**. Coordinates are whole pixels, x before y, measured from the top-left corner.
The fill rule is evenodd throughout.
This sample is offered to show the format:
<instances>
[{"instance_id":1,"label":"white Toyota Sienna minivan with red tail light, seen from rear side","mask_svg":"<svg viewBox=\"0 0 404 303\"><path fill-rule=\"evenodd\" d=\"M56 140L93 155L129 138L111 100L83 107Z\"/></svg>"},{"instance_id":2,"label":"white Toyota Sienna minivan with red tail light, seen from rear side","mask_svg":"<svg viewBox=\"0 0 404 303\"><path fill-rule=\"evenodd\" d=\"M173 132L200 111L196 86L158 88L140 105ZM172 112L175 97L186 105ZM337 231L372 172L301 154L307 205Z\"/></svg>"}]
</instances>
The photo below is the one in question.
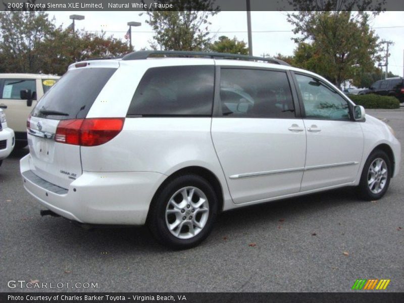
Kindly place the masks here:
<instances>
[{"instance_id":1,"label":"white Toyota Sienna minivan with red tail light, seen from rear side","mask_svg":"<svg viewBox=\"0 0 404 303\"><path fill-rule=\"evenodd\" d=\"M175 248L221 211L343 186L379 199L401 155L393 130L323 77L228 54L73 64L27 125L21 174L48 214L147 224Z\"/></svg>"}]
</instances>

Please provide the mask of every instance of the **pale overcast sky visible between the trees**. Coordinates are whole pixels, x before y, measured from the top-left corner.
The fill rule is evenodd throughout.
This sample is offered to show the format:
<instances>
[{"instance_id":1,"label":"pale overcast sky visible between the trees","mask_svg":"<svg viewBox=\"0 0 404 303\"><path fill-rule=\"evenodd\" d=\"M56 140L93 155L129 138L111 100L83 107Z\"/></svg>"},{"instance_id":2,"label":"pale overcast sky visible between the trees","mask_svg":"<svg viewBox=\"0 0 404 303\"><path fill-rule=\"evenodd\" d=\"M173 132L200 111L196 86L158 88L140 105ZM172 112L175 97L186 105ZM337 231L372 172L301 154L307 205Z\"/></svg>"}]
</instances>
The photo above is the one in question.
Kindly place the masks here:
<instances>
[{"instance_id":1,"label":"pale overcast sky visible between the trees","mask_svg":"<svg viewBox=\"0 0 404 303\"><path fill-rule=\"evenodd\" d=\"M55 17L56 25L64 28L69 26L72 14L84 15L85 19L76 21L76 29L86 31L107 32L122 41L126 41L124 35L128 30L129 21L141 22L141 26L132 27L132 44L135 50L142 47L150 48L153 41L153 30L145 23L147 15L140 12L48 12L49 17ZM291 40L294 36L292 26L286 20L286 12L251 12L252 28L252 54L262 56L269 54L275 56L292 55L296 44ZM225 35L230 38L247 42L247 16L246 12L220 12L210 18L209 31L217 38ZM403 76L404 61L404 12L384 12L376 16L371 22L371 27L380 39L391 40L389 46L388 70ZM343 31L344 29L341 28ZM348 33L346 33L348 34Z\"/></svg>"}]
</instances>

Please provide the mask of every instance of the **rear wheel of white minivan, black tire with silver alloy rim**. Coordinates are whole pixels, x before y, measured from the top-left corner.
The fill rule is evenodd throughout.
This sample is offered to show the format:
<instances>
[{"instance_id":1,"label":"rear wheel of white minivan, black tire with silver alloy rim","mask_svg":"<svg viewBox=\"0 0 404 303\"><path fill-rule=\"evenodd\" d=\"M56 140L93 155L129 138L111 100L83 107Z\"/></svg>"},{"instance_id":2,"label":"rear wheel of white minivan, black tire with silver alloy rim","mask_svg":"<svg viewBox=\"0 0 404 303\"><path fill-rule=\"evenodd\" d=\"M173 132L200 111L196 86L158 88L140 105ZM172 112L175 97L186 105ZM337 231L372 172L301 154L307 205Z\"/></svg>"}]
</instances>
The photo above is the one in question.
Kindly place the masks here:
<instances>
[{"instance_id":1,"label":"rear wheel of white minivan, black tire with silver alloy rim","mask_svg":"<svg viewBox=\"0 0 404 303\"><path fill-rule=\"evenodd\" d=\"M218 200L212 185L197 175L171 180L151 203L148 227L163 245L186 249L212 231Z\"/></svg>"}]
</instances>

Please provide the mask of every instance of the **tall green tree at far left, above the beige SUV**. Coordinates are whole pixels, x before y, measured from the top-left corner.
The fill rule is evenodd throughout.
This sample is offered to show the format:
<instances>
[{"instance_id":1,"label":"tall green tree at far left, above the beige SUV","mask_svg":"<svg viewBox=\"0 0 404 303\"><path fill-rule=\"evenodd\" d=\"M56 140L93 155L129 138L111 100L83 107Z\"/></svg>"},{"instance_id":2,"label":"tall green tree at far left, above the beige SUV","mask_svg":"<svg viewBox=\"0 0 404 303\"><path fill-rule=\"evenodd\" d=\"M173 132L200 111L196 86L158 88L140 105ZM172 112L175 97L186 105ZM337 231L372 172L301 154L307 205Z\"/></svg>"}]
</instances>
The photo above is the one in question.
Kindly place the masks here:
<instances>
[{"instance_id":1,"label":"tall green tree at far left, above the beige SUV","mask_svg":"<svg viewBox=\"0 0 404 303\"><path fill-rule=\"evenodd\" d=\"M3 72L36 72L40 62L35 48L55 30L47 14L1 12L0 30L0 65Z\"/></svg>"}]
</instances>

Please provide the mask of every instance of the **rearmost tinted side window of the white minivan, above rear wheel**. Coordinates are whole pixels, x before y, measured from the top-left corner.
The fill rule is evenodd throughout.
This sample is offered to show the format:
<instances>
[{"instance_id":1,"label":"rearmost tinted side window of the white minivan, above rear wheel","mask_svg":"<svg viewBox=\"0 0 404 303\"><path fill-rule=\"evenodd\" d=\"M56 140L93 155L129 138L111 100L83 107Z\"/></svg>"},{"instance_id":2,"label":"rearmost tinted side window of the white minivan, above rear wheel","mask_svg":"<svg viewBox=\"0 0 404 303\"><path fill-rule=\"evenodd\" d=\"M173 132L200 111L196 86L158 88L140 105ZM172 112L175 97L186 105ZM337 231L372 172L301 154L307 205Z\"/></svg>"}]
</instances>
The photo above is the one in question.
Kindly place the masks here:
<instances>
[{"instance_id":1,"label":"rearmost tinted side window of the white minivan, above rear wheel","mask_svg":"<svg viewBox=\"0 0 404 303\"><path fill-rule=\"evenodd\" d=\"M128 115L211 116L214 66L150 68L133 95Z\"/></svg>"}]
</instances>

